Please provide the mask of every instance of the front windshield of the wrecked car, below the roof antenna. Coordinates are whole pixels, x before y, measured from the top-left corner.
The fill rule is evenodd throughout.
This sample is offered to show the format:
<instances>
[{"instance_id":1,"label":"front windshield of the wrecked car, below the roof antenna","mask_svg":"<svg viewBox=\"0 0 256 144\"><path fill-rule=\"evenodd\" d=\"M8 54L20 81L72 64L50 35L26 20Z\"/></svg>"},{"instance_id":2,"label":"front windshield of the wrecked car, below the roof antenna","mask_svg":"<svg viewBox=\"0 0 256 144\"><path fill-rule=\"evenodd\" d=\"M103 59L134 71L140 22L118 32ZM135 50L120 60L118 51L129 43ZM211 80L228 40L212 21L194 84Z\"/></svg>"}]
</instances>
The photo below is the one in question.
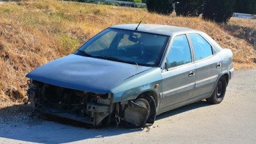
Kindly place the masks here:
<instances>
[{"instance_id":1,"label":"front windshield of the wrecked car, below the roof antenna","mask_svg":"<svg viewBox=\"0 0 256 144\"><path fill-rule=\"evenodd\" d=\"M169 36L108 28L86 42L75 54L158 66Z\"/></svg>"}]
</instances>

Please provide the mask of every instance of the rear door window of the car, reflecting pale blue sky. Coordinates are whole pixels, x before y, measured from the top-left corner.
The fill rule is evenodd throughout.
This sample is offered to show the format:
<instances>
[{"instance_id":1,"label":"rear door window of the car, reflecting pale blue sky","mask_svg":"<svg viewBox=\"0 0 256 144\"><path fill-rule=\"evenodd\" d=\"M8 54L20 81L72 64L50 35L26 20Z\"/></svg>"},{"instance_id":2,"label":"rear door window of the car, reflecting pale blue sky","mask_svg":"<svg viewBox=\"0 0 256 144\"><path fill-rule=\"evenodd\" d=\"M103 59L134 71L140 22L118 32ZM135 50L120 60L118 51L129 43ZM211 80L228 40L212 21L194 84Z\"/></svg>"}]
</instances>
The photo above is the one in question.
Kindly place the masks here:
<instances>
[{"instance_id":1,"label":"rear door window of the car, reflecting pale blue sky","mask_svg":"<svg viewBox=\"0 0 256 144\"><path fill-rule=\"evenodd\" d=\"M196 33L189 34L194 47L196 60L201 60L212 55L211 45L200 35Z\"/></svg>"}]
</instances>

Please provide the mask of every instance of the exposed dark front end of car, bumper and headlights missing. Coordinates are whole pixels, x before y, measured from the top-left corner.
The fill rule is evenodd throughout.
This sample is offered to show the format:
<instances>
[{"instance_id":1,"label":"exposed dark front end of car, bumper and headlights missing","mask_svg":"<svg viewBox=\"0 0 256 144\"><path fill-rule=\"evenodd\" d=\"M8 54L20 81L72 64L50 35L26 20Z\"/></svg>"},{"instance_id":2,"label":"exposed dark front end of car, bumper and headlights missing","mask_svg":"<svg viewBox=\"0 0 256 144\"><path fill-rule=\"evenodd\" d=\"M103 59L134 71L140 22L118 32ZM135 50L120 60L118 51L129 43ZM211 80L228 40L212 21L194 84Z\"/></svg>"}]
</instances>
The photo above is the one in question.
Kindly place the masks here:
<instances>
[{"instance_id":1,"label":"exposed dark front end of car, bumper and headlights missing","mask_svg":"<svg viewBox=\"0 0 256 144\"><path fill-rule=\"evenodd\" d=\"M110 123L112 93L92 93L30 80L28 97L35 111L78 120L93 126Z\"/></svg>"}]
</instances>

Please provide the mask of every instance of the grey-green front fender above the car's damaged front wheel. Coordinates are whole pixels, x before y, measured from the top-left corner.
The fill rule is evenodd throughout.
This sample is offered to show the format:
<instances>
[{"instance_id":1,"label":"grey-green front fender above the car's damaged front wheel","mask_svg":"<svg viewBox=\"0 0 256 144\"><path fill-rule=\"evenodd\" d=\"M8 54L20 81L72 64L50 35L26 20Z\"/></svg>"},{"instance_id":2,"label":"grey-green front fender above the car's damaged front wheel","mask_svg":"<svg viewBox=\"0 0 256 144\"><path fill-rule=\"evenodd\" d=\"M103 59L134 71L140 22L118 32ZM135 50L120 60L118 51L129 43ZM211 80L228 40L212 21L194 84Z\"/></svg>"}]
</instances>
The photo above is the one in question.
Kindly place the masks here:
<instances>
[{"instance_id":1,"label":"grey-green front fender above the car's damaged front wheel","mask_svg":"<svg viewBox=\"0 0 256 144\"><path fill-rule=\"evenodd\" d=\"M159 84L156 87L156 84ZM154 91L159 95L162 90L161 68L150 68L145 72L129 77L111 89L113 102L133 100L143 92ZM158 99L158 98L157 98Z\"/></svg>"}]
</instances>

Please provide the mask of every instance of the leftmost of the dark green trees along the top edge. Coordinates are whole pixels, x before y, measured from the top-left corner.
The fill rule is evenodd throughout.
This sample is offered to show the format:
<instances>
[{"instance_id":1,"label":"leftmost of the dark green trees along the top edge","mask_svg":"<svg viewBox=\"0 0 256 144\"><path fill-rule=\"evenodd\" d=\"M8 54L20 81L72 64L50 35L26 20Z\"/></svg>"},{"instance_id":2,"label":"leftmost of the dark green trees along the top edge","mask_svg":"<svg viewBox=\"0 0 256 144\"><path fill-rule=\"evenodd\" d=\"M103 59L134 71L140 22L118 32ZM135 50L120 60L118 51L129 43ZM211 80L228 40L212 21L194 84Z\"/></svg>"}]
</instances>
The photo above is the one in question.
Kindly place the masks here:
<instances>
[{"instance_id":1,"label":"leftmost of the dark green trees along the top edge","mask_svg":"<svg viewBox=\"0 0 256 144\"><path fill-rule=\"evenodd\" d=\"M173 0L147 0L148 12L156 12L168 15L173 12Z\"/></svg>"}]
</instances>

